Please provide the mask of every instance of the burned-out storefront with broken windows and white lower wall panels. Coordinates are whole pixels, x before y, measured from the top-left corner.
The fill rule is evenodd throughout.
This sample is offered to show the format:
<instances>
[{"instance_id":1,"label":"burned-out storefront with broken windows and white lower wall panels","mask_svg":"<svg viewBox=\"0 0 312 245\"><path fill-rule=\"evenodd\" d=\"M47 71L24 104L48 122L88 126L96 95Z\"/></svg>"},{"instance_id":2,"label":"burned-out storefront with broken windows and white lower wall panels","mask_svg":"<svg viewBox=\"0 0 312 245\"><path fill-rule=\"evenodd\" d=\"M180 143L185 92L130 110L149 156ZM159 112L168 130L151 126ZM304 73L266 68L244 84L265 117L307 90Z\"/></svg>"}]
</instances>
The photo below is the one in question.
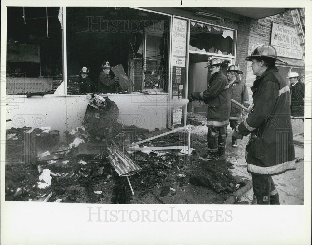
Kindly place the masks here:
<instances>
[{"instance_id":1,"label":"burned-out storefront with broken windows and white lower wall panels","mask_svg":"<svg viewBox=\"0 0 312 245\"><path fill-rule=\"evenodd\" d=\"M105 95L119 107L120 123L181 127L187 112L207 111L205 104L182 101L207 88L208 59L239 64L251 86L254 76L244 57L255 43L270 41L268 18L268 28L256 37L252 32L261 20L231 9L7 7L7 128L51 126L64 132L80 126L90 98L79 93L80 69L86 66L97 85L106 61L121 64L132 81ZM288 62L292 71L304 65L302 59ZM25 96L49 90L55 91Z\"/></svg>"}]
</instances>

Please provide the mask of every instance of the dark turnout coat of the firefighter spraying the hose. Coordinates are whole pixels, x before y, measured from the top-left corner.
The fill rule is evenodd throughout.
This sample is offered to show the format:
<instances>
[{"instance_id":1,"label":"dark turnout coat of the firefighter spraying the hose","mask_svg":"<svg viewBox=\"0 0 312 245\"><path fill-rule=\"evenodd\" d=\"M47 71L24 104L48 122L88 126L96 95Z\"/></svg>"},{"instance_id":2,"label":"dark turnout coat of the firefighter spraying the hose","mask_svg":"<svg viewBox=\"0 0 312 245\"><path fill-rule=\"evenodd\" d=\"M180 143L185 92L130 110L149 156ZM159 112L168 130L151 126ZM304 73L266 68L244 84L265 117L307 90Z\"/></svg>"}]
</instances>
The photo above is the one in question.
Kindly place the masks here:
<instances>
[{"instance_id":1,"label":"dark turnout coat of the firefighter spraying the hose","mask_svg":"<svg viewBox=\"0 0 312 245\"><path fill-rule=\"evenodd\" d=\"M221 70L212 74L207 90L197 92L195 99L208 104L207 127L225 127L229 124L230 87L227 77Z\"/></svg>"}]
</instances>

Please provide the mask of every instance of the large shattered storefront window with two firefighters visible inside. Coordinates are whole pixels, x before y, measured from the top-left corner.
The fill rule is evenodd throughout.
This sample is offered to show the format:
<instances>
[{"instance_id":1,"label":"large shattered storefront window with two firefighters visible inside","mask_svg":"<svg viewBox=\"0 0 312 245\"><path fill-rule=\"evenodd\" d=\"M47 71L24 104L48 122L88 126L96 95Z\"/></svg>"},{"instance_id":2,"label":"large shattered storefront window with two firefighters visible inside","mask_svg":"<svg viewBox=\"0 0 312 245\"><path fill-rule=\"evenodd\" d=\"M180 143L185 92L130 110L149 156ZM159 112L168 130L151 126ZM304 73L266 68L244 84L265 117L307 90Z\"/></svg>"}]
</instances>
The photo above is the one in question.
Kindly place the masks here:
<instances>
[{"instance_id":1,"label":"large shattered storefront window with two firefighters visible inside","mask_svg":"<svg viewBox=\"0 0 312 245\"><path fill-rule=\"evenodd\" d=\"M164 91L168 83L168 19L126 7L66 7L68 94L85 94L79 90L82 67L87 67L98 94ZM129 82L102 90L99 76L104 62L110 67L121 65ZM109 79L117 75L112 70Z\"/></svg>"}]
</instances>

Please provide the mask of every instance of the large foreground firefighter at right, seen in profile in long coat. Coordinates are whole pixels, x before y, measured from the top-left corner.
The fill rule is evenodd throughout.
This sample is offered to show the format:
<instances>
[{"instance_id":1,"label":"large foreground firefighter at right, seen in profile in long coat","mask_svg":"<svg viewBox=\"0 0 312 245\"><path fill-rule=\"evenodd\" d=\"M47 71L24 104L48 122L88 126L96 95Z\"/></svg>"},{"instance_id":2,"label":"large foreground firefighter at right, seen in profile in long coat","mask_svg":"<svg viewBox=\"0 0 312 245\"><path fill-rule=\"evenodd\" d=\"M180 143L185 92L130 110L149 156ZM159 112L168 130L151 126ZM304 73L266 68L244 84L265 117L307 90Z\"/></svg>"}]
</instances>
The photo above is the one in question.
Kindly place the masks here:
<instances>
[{"instance_id":1,"label":"large foreground firefighter at right, seen in profile in long coat","mask_svg":"<svg viewBox=\"0 0 312 245\"><path fill-rule=\"evenodd\" d=\"M232 137L242 139L250 134L245 158L252 176L251 204L280 204L271 176L295 170L289 86L275 66L281 60L273 46L256 47L246 60L252 62L256 75L251 87L254 109L233 129Z\"/></svg>"}]
</instances>

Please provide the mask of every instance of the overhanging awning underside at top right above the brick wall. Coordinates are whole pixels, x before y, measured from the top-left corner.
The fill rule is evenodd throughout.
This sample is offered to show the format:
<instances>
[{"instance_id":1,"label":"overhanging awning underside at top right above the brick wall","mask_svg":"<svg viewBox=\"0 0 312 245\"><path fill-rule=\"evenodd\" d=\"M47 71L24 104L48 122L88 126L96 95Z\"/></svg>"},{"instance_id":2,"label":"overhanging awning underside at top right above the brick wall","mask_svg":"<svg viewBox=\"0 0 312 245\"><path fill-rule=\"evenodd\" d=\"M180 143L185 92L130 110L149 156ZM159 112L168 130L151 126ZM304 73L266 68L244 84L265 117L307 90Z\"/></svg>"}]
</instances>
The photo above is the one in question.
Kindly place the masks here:
<instances>
[{"instance_id":1,"label":"overhanging awning underside at top right above the brick wall","mask_svg":"<svg viewBox=\"0 0 312 245\"><path fill-rule=\"evenodd\" d=\"M222 8L252 19L262 19L268 16L284 13L295 8Z\"/></svg>"}]
</instances>

